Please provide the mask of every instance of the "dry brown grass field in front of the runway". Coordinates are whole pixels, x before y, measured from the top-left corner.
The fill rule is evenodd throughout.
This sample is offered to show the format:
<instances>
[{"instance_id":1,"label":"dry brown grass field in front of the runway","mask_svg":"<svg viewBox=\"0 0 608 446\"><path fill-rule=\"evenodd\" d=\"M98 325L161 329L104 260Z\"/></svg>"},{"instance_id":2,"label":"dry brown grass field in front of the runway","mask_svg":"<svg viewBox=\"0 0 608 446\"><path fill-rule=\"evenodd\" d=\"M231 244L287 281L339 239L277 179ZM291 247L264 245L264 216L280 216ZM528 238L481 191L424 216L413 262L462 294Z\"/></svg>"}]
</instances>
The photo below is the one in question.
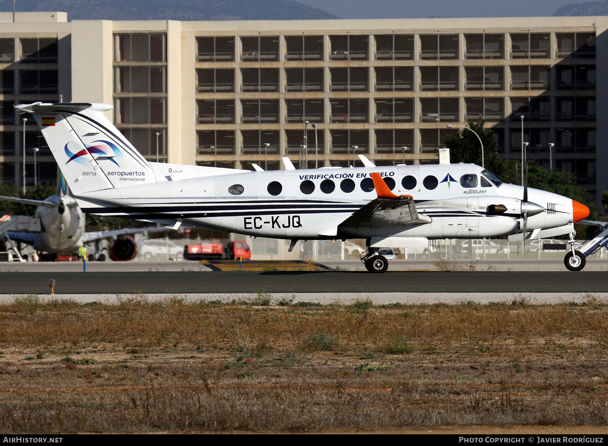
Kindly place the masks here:
<instances>
[{"instance_id":1,"label":"dry brown grass field in front of the runway","mask_svg":"<svg viewBox=\"0 0 608 446\"><path fill-rule=\"evenodd\" d=\"M608 302L0 305L4 433L608 425ZM601 431L601 430L600 430ZM605 431L605 429L604 429Z\"/></svg>"}]
</instances>

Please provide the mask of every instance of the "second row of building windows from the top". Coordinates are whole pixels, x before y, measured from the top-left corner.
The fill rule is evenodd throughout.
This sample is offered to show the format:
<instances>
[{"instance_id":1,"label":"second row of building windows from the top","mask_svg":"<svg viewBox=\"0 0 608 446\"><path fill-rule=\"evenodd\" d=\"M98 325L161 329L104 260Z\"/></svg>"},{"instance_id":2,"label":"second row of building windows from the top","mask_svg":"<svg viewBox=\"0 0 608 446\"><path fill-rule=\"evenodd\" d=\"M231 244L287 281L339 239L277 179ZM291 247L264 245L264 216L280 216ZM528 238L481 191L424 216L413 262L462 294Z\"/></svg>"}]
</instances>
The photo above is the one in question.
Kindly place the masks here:
<instances>
[{"instance_id":1,"label":"second row of building windows from the top","mask_svg":"<svg viewBox=\"0 0 608 446\"><path fill-rule=\"evenodd\" d=\"M549 65L329 68L329 91L505 91L551 89ZM117 67L116 92L164 91L164 67ZM238 79L230 68L196 69L197 93L280 92L279 68L241 68ZM555 66L556 89L595 89L593 64ZM463 86L460 77L463 77ZM323 68L286 68L285 92L323 92ZM236 83L238 82L238 83ZM508 86L508 88L505 88Z\"/></svg>"}]
</instances>

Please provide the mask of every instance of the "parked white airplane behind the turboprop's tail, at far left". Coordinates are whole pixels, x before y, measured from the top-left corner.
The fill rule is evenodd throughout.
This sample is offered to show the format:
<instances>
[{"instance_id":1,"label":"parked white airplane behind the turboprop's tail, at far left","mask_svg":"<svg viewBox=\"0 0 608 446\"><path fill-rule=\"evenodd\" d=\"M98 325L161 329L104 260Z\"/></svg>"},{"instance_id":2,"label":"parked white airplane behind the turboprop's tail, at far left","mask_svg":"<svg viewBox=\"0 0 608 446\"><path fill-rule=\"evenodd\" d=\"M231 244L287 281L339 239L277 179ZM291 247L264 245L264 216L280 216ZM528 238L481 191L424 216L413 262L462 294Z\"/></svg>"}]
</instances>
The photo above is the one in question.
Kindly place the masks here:
<instances>
[{"instance_id":1,"label":"parked white airplane behind the turboprop's tail, at far left","mask_svg":"<svg viewBox=\"0 0 608 446\"><path fill-rule=\"evenodd\" d=\"M99 242L109 239L112 240L108 246L110 259L131 260L137 255L137 243L128 234L150 229L85 232L85 215L74 197L64 195L61 189L58 195L51 195L44 201L2 196L0 200L37 206L34 217L40 218L41 232L7 231L7 234L12 240L28 243L36 251L49 254L75 253L85 243L95 242L95 254L89 256L89 260L103 261L105 254L100 251Z\"/></svg>"}]
</instances>

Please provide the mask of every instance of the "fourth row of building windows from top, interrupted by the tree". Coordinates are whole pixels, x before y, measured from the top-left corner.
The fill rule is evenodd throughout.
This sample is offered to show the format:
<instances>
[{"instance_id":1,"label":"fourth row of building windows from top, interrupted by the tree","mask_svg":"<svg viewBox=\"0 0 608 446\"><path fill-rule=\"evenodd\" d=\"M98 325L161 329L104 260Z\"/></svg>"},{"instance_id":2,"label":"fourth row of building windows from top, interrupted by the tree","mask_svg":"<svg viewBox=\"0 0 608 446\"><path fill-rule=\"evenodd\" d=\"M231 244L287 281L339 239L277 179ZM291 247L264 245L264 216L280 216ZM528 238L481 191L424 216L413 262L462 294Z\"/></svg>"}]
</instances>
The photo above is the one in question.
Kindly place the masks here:
<instances>
[{"instance_id":1,"label":"fourth row of building windows from top, interrupted by the tree","mask_svg":"<svg viewBox=\"0 0 608 446\"><path fill-rule=\"evenodd\" d=\"M510 152L520 153L522 131L506 129ZM197 155L280 155L280 130L198 130L196 132ZM418 134L420 153L436 153L444 147L443 140L455 130L446 128L421 129L329 129L284 130L283 153L286 155L351 155L373 153L405 157L415 153L415 134ZM326 146L325 133L328 134ZM373 140L370 142L370 135ZM554 144L555 153L595 153L596 128L558 128L551 136L551 128L525 128L523 141L528 142L529 153L548 153ZM238 139L237 139L238 136ZM497 146L505 151L505 130L496 129ZM137 146L136 146L137 147ZM154 146L152 146L154 147ZM327 147L328 150L325 150ZM411 156L408 156L410 159Z\"/></svg>"}]
</instances>

